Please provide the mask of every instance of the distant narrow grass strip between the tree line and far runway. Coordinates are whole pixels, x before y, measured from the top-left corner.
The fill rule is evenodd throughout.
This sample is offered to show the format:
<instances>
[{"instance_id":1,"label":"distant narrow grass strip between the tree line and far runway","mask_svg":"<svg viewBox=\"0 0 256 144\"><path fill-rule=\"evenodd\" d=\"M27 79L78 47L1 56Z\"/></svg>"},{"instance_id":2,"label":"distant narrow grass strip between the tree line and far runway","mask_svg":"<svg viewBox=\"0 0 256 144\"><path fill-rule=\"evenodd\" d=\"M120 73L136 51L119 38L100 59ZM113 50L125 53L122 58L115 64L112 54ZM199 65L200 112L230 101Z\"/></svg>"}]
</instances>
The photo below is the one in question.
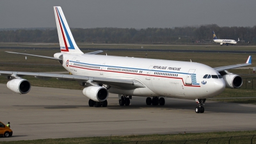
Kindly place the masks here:
<instances>
[{"instance_id":1,"label":"distant narrow grass strip between the tree line and far runway","mask_svg":"<svg viewBox=\"0 0 256 144\"><path fill-rule=\"evenodd\" d=\"M170 44L86 44L77 43L81 49L182 49L182 50L228 50L228 51L255 51L256 45L223 45L219 44L189 44L189 45L170 45ZM33 44L33 43L0 43L0 47L48 47L60 48L59 44ZM143 47L143 48L141 48Z\"/></svg>"}]
</instances>

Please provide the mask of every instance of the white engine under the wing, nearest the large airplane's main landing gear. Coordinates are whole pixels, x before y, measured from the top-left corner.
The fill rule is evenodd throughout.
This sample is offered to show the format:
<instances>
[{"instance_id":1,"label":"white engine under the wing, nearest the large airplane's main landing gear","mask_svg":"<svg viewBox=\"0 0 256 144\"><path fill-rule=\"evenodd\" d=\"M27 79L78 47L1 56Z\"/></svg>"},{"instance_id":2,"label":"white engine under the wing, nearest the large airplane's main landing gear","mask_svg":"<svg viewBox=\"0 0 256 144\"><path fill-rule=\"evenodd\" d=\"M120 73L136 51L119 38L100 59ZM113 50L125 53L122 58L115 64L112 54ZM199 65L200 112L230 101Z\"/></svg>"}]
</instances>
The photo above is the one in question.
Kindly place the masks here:
<instances>
[{"instance_id":1,"label":"white engine under the wing, nearest the large airplane's main landing gear","mask_svg":"<svg viewBox=\"0 0 256 144\"><path fill-rule=\"evenodd\" d=\"M84 88L83 95L95 102L103 102L108 99L108 90L102 86L88 86Z\"/></svg>"}]
</instances>

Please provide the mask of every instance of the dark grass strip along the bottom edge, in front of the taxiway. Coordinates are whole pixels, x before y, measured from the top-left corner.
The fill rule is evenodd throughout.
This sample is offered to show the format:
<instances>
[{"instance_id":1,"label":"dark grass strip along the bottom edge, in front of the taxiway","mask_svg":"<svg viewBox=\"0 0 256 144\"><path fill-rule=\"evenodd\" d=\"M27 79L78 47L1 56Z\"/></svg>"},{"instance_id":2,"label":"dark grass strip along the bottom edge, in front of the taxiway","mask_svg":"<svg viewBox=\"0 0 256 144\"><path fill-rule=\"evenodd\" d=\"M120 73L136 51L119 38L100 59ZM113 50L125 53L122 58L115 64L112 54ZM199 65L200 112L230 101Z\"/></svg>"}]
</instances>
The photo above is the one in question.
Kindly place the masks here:
<instances>
[{"instance_id":1,"label":"dark grass strip along the bottom edge, in front of the taxiway","mask_svg":"<svg viewBox=\"0 0 256 144\"><path fill-rule=\"evenodd\" d=\"M148 134L148 135L131 135L131 136L102 136L102 137L84 137L84 138L61 138L45 140L23 140L23 141L0 141L0 144L23 144L23 143L228 143L231 136L231 143L250 143L256 131L232 131L232 132L203 132L203 133L186 133L186 134ZM209 140L209 138L211 138ZM253 139L255 142L256 138ZM164 142L165 141L165 142Z\"/></svg>"}]
</instances>

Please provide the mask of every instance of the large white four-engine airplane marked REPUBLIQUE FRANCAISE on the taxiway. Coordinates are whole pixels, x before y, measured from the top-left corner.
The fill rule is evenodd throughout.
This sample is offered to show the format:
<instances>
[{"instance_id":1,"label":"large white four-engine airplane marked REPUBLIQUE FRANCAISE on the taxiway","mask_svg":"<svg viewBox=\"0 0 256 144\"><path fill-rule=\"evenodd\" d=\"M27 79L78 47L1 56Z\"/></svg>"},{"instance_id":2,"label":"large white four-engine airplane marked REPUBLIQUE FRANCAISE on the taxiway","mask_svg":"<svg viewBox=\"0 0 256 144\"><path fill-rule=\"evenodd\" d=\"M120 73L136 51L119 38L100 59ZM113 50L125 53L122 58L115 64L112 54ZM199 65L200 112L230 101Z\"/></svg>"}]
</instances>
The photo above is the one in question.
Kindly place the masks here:
<instances>
[{"instance_id":1,"label":"large white four-engine airplane marked REPUBLIQUE FRANCAISE on the taxiway","mask_svg":"<svg viewBox=\"0 0 256 144\"><path fill-rule=\"evenodd\" d=\"M84 86L83 95L90 99L90 107L108 106L109 93L116 93L120 106L129 106L132 96L147 97L146 104L154 106L163 106L164 97L175 97L196 100L198 106L195 112L204 113L202 104L205 99L220 94L225 86L239 88L242 85L242 78L228 73L227 69L252 63L249 56L243 64L211 68L202 63L187 61L97 55L102 51L84 54L77 47L60 6L54 6L54 14L61 52L54 54L54 57L24 55L57 60L72 75L0 71L1 76L10 79L7 87L13 92L26 94L31 89L29 81L22 79L22 76L35 76L39 79L53 77L76 80Z\"/></svg>"}]
</instances>

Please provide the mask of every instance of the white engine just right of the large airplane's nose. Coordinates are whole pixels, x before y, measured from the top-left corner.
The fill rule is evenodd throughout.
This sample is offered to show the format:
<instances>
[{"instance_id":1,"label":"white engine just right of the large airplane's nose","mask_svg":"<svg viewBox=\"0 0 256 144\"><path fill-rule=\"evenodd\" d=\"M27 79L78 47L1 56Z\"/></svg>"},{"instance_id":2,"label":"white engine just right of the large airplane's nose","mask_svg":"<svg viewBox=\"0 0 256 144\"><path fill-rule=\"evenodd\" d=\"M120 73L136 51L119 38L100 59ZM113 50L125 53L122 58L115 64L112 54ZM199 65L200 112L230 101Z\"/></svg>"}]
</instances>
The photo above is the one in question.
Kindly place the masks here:
<instances>
[{"instance_id":1,"label":"white engine just right of the large airplane's nose","mask_svg":"<svg viewBox=\"0 0 256 144\"><path fill-rule=\"evenodd\" d=\"M226 74L222 77L229 88L240 88L243 84L242 77L236 74Z\"/></svg>"}]
</instances>

